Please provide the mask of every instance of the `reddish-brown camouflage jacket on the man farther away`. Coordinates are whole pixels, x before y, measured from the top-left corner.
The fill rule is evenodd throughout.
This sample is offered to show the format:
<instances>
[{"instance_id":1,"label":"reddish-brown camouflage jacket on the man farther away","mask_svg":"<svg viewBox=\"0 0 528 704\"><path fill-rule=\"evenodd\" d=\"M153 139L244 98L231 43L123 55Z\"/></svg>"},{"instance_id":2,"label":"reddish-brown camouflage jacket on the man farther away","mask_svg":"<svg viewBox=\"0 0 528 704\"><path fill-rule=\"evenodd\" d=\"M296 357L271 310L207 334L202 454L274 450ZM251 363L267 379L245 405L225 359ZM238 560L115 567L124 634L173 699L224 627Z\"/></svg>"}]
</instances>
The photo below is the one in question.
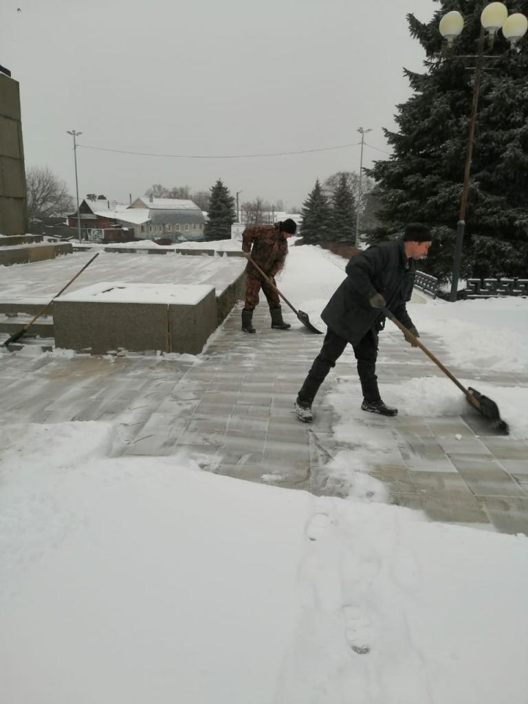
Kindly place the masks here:
<instances>
[{"instance_id":1,"label":"reddish-brown camouflage jacket on the man farther away","mask_svg":"<svg viewBox=\"0 0 528 704\"><path fill-rule=\"evenodd\" d=\"M275 225L248 225L242 233L242 251L251 251L251 258L272 279L284 266L288 240L279 232L278 222ZM262 278L251 262L248 262L246 272Z\"/></svg>"}]
</instances>

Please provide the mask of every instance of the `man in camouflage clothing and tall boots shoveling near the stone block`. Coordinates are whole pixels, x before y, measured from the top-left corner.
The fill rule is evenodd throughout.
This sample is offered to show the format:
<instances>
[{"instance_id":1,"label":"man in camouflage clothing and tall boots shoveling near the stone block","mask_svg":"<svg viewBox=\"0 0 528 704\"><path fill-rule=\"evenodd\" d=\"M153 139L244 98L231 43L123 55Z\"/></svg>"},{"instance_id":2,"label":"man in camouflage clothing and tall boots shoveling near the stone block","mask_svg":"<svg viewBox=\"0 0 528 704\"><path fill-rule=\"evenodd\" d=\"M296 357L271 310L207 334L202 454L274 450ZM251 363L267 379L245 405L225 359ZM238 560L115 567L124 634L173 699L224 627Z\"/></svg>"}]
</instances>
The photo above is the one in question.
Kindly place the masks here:
<instances>
[{"instance_id":1,"label":"man in camouflage clothing and tall boots shoveling near the stone block","mask_svg":"<svg viewBox=\"0 0 528 704\"><path fill-rule=\"evenodd\" d=\"M297 225L288 218L275 225L249 225L242 233L242 251L249 254L265 275L275 284L275 275L284 266L288 253L288 237L295 234ZM253 327L253 310L258 306L258 291L262 288L270 306L271 327L287 330L291 325L282 320L282 308L277 291L272 289L256 268L248 262L246 266L246 303L242 310L242 329L256 332Z\"/></svg>"}]
</instances>

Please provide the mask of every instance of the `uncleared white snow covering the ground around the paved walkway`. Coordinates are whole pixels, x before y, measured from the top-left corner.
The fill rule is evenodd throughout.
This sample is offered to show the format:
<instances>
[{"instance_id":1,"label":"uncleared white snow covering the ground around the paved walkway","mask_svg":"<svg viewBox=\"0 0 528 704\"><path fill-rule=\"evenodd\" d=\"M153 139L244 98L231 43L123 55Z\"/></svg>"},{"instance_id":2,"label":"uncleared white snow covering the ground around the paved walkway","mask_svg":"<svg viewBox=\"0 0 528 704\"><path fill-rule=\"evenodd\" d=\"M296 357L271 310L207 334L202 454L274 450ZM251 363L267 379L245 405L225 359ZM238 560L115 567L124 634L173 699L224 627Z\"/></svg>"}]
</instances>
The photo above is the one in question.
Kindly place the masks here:
<instances>
[{"instance_id":1,"label":"uncleared white snow covering the ground around the paved walkway","mask_svg":"<svg viewBox=\"0 0 528 704\"><path fill-rule=\"evenodd\" d=\"M318 253L291 247L277 283L322 325L344 260ZM448 365L528 372L528 301L409 308ZM389 385L402 413L462 403L448 379ZM526 386L478 387L526 437ZM428 522L366 475L343 500L111 458L114 432L0 427L2 704L526 704L526 536Z\"/></svg>"}]
</instances>

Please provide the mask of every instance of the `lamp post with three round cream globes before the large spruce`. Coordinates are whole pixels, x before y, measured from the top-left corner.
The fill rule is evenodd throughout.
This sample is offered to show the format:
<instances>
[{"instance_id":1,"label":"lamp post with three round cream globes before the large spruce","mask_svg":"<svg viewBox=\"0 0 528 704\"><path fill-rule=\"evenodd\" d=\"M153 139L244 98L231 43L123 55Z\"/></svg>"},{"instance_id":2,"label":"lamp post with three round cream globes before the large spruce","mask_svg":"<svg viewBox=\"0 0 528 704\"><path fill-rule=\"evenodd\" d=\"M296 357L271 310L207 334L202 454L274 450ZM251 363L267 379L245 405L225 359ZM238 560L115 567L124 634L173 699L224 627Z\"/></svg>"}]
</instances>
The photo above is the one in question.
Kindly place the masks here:
<instances>
[{"instance_id":1,"label":"lamp post with three round cream globes before the large spruce","mask_svg":"<svg viewBox=\"0 0 528 704\"><path fill-rule=\"evenodd\" d=\"M462 187L462 196L460 198L460 211L458 214L458 222L456 226L456 241L455 254L453 258L453 277L451 279L451 293L449 294L450 301L456 301L458 292L458 279L460 278L460 262L462 260L462 245L465 232L465 206L467 203L467 193L470 187L470 172L471 160L473 154L473 137L475 122L477 120L477 105L479 102L480 81L482 77L482 69L484 66L484 36L487 32L490 45L493 45L495 36L502 28L503 36L510 42L510 49L515 47L515 44L524 37L528 29L528 20L520 13L514 13L508 17L508 8L501 2L492 2L486 5L480 15L480 37L477 49L477 66L475 68L473 99L471 103L470 115L470 130L467 137L467 150L464 166L464 182ZM451 46L462 32L464 27L464 18L457 11L446 13L440 20L439 31L442 37L447 40L448 46Z\"/></svg>"}]
</instances>

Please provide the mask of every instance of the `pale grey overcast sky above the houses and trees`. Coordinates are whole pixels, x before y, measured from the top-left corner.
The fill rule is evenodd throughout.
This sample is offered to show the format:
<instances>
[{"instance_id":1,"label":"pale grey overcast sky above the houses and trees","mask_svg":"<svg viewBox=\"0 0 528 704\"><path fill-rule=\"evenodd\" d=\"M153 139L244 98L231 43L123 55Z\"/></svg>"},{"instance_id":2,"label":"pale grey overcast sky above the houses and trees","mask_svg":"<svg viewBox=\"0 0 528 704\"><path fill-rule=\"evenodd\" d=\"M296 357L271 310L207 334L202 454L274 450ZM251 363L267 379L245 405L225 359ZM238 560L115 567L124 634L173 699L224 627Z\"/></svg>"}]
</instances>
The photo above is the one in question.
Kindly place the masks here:
<instances>
[{"instance_id":1,"label":"pale grey overcast sky above the houses and trees","mask_svg":"<svg viewBox=\"0 0 528 704\"><path fill-rule=\"evenodd\" d=\"M20 12L17 8L20 7ZM422 70L406 13L433 0L1 0L0 63L20 82L26 167L75 194L79 144L169 155L242 155L360 141L388 151L403 67ZM377 149L374 149L376 147ZM383 151L377 151L383 150ZM300 206L316 178L358 170L360 147L267 158L77 150L80 197L127 201L153 183Z\"/></svg>"}]
</instances>

